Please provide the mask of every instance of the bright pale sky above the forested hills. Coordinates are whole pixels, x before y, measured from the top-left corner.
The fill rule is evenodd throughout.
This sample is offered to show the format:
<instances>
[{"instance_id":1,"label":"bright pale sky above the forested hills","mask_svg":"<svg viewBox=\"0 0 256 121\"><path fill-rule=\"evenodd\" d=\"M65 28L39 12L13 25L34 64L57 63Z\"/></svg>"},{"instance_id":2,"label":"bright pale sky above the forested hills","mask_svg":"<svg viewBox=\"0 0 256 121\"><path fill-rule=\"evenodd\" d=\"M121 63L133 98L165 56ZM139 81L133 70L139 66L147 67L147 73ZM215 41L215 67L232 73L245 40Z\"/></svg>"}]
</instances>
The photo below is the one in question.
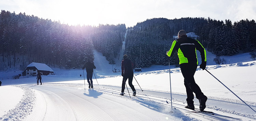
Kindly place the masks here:
<instances>
[{"instance_id":1,"label":"bright pale sky above the forested hills","mask_svg":"<svg viewBox=\"0 0 256 121\"><path fill-rule=\"evenodd\" d=\"M151 18L256 19L256 0L0 0L0 9L69 25L125 23Z\"/></svg>"}]
</instances>

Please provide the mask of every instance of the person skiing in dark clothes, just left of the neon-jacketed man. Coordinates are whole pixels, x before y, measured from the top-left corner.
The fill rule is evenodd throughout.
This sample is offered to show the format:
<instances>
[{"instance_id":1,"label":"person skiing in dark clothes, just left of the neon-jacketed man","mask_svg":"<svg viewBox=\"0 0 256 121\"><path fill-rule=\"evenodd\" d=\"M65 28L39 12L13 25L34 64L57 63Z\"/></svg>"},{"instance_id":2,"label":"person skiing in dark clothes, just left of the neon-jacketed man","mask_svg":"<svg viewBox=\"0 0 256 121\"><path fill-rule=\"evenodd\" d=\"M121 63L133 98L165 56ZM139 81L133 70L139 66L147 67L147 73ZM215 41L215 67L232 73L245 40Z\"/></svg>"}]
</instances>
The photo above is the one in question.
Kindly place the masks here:
<instances>
[{"instance_id":1,"label":"person skiing in dark clothes, just left of the neon-jacketed man","mask_svg":"<svg viewBox=\"0 0 256 121\"><path fill-rule=\"evenodd\" d=\"M132 79L133 79L133 63L130 59L127 58L127 55L124 55L124 60L122 60L121 63L121 69L122 69L122 76L123 76L123 83L122 83L122 91L120 93L121 96L124 95L124 91L125 91L125 83L128 80L129 86L132 89L133 92L133 96L136 96L136 90L134 88L134 86L132 85Z\"/></svg>"}]
</instances>

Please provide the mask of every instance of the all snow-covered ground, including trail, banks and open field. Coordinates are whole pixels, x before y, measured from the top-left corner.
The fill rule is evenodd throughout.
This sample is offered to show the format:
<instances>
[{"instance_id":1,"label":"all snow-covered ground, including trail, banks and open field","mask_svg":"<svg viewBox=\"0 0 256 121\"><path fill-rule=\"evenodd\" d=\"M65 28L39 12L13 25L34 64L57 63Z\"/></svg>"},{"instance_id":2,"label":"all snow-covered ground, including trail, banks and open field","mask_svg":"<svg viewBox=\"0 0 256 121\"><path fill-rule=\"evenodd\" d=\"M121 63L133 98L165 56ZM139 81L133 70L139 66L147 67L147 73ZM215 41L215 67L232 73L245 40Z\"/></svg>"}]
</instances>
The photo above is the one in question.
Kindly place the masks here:
<instances>
[{"instance_id":1,"label":"all snow-covered ground, including trail, banks and open field","mask_svg":"<svg viewBox=\"0 0 256 121\"><path fill-rule=\"evenodd\" d=\"M43 85L36 85L36 77L21 76L20 79L1 79L0 121L84 121L84 120L256 120L256 113L234 96L207 71L195 73L196 83L208 97L207 111L216 115L189 113L185 109L186 92L179 68L171 68L172 107L170 94L169 67L154 65L135 72L133 85L137 96L119 96L122 84L120 72L112 71L105 57L95 54L94 89L88 89L82 69L61 70L53 68L55 75L42 76ZM215 55L207 52L207 70L216 76L243 101L256 110L256 61L248 53L230 58L230 64L215 65ZM200 59L199 59L200 60ZM231 63L232 60L232 63ZM248 62L246 60L249 60ZM243 63L238 63L243 62ZM16 72L0 72L10 76ZM79 75L82 74L82 77ZM86 75L86 72L84 73ZM85 77L86 79L86 77ZM84 84L85 82L85 84ZM99 85L98 85L99 84ZM129 88L131 94L131 89ZM169 102L166 103L166 101ZM196 108L199 101L194 99ZM229 116L233 118L227 118Z\"/></svg>"}]
</instances>

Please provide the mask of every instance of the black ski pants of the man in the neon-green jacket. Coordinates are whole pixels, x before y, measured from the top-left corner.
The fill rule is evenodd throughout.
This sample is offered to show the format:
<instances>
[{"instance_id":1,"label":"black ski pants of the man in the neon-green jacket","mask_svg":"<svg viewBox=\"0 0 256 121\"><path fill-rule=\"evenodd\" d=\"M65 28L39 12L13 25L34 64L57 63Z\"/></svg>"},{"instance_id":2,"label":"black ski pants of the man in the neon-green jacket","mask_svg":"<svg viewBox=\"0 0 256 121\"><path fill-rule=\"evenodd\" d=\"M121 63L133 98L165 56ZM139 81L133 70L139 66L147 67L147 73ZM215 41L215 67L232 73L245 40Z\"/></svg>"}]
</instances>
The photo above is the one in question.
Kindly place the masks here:
<instances>
[{"instance_id":1,"label":"black ski pants of the man in the neon-green jacket","mask_svg":"<svg viewBox=\"0 0 256 121\"><path fill-rule=\"evenodd\" d=\"M199 100L200 97L203 96L203 93L200 89L200 87L196 84L194 79L194 74L197 69L196 63L183 63L180 64L181 73L184 77L184 85L186 87L187 92L187 103L188 104L194 104L194 94L196 94L196 98Z\"/></svg>"}]
</instances>

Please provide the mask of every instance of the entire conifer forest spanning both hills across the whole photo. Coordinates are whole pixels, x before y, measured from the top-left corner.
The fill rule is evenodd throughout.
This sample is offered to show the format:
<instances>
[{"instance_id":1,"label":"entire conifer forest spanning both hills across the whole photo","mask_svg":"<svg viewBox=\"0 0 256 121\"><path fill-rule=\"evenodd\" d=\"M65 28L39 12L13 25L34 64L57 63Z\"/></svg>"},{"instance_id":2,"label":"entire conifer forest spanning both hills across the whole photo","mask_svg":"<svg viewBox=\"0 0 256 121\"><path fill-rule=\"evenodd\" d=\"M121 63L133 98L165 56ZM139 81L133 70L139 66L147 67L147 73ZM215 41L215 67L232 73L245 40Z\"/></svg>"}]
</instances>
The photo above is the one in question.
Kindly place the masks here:
<instances>
[{"instance_id":1,"label":"entire conifer forest spanning both hills across the whole photo","mask_svg":"<svg viewBox=\"0 0 256 121\"><path fill-rule=\"evenodd\" d=\"M80 68L88 58L94 60L94 49L101 52L109 64L115 64L114 58L122 47L126 32L124 54L133 60L135 68L168 65L169 60L171 65L178 65L177 55L169 58L165 52L180 30L196 33L201 44L217 56L253 52L256 48L254 20L232 24L230 20L211 18L153 18L126 29L125 24L70 26L2 10L0 56L4 63L0 63L0 68L16 66L16 61L23 63L21 70L31 62L58 68Z\"/></svg>"}]
</instances>

